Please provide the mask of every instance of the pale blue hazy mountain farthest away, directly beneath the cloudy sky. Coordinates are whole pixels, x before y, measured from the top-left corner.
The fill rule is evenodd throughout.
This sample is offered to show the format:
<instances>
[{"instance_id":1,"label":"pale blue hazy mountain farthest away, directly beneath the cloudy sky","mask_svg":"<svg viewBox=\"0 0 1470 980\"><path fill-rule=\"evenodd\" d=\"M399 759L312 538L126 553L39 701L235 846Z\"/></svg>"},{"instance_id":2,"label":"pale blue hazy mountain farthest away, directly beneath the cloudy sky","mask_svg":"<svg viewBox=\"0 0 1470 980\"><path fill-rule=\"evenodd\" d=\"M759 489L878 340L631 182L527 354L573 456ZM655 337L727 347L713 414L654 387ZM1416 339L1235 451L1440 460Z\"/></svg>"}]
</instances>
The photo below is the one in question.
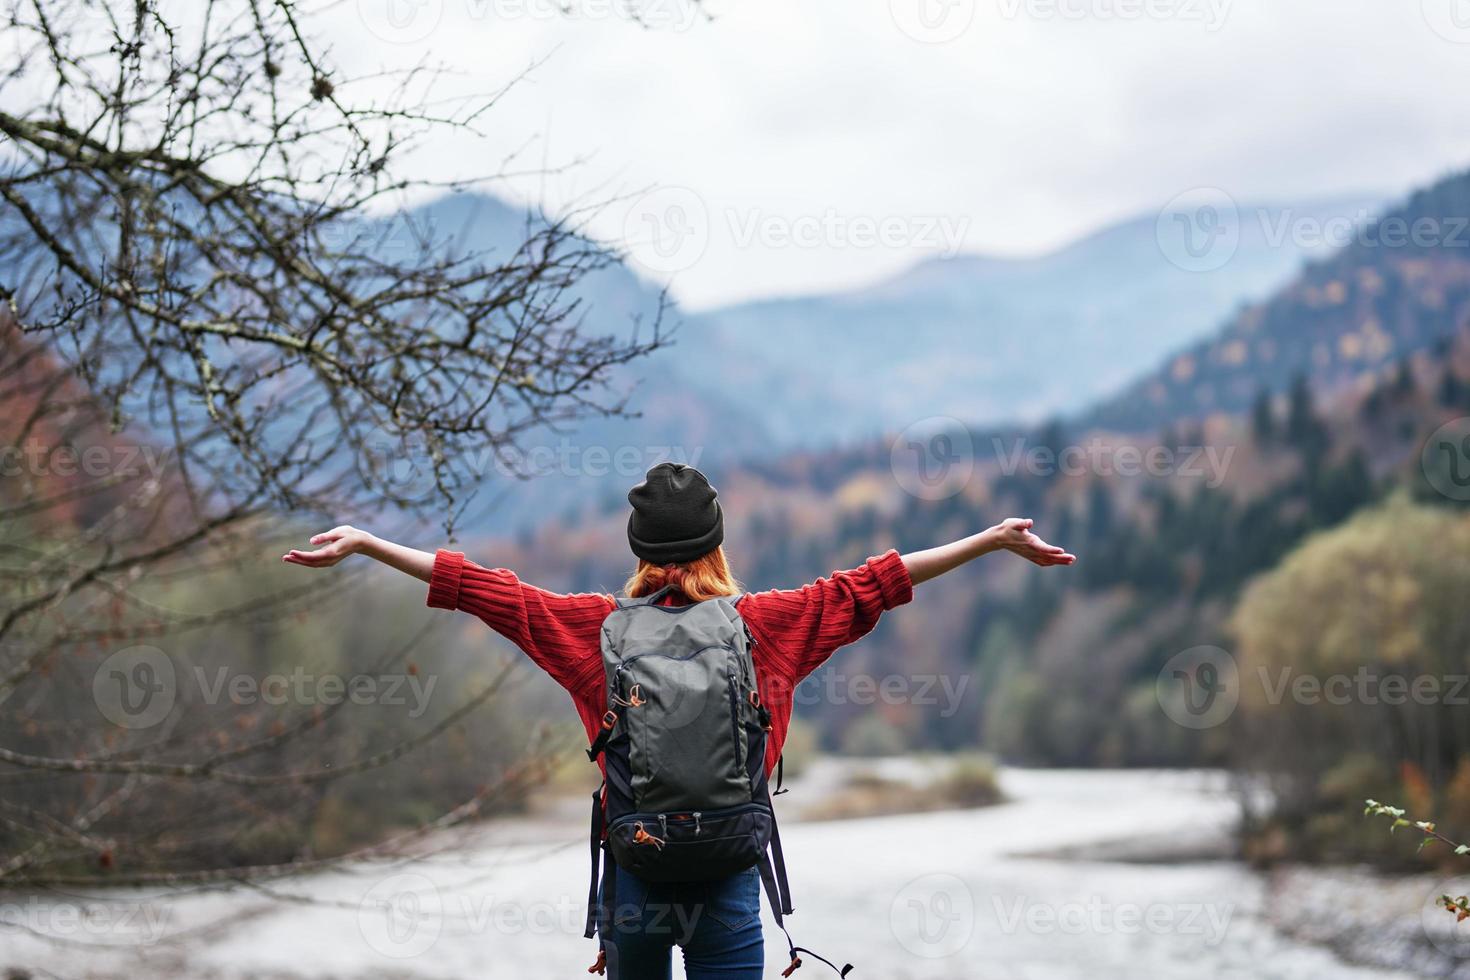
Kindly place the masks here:
<instances>
[{"instance_id":1,"label":"pale blue hazy mountain farthest away, directly beneath the cloudy sky","mask_svg":"<svg viewBox=\"0 0 1470 980\"><path fill-rule=\"evenodd\" d=\"M1157 215L1035 259L933 259L853 292L686 317L669 370L761 414L778 444L810 448L936 414L986 425L1076 411L1327 251L1301 229L1360 225L1374 209L1242 206L1233 254L1208 270L1185 267ZM703 383L681 372L707 363L722 370Z\"/></svg>"}]
</instances>

